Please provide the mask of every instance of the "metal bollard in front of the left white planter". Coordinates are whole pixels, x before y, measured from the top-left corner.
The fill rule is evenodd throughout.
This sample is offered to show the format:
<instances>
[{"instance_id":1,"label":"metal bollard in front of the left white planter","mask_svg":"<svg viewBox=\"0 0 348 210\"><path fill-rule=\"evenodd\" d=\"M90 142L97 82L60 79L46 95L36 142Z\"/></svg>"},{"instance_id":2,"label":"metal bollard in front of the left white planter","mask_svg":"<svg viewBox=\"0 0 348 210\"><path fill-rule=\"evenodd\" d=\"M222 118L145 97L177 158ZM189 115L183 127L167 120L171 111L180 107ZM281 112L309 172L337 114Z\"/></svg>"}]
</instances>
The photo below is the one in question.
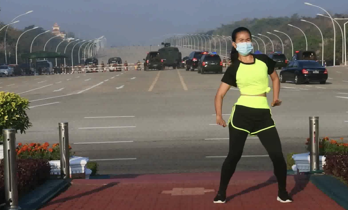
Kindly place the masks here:
<instances>
[{"instance_id":1,"label":"metal bollard in front of the left white planter","mask_svg":"<svg viewBox=\"0 0 348 210\"><path fill-rule=\"evenodd\" d=\"M59 147L61 152L61 178L70 178L70 152L69 152L69 129L68 122L60 122L59 125Z\"/></svg>"}]
</instances>

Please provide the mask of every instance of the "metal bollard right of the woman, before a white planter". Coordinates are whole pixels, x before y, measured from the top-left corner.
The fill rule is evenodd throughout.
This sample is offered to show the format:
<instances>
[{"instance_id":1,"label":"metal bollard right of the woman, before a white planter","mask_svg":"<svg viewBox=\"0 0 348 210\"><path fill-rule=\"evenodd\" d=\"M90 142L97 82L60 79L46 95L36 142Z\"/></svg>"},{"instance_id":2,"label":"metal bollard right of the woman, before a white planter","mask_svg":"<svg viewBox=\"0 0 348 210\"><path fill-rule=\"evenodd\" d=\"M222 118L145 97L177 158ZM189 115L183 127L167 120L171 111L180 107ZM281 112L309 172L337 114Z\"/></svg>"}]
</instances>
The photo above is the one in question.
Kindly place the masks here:
<instances>
[{"instance_id":1,"label":"metal bollard right of the woman, before a white planter","mask_svg":"<svg viewBox=\"0 0 348 210\"><path fill-rule=\"evenodd\" d=\"M319 168L319 117L309 117L309 162L310 171L320 170Z\"/></svg>"}]
</instances>

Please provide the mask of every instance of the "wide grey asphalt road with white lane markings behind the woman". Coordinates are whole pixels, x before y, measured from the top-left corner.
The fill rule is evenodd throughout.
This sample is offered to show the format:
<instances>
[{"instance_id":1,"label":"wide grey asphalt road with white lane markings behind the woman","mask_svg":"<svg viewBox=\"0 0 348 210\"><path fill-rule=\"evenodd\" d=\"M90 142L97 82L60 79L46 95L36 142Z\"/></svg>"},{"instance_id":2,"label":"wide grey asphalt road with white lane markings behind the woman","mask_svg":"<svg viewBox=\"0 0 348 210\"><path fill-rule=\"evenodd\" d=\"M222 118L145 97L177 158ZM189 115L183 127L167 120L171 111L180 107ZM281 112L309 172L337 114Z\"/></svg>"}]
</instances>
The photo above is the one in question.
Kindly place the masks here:
<instances>
[{"instance_id":1,"label":"wide grey asphalt road with white lane markings behind the woman","mask_svg":"<svg viewBox=\"0 0 348 210\"><path fill-rule=\"evenodd\" d=\"M113 57L109 50L105 57ZM133 51L135 61L142 56ZM281 84L283 103L271 110L284 155L305 152L312 115L319 116L319 136L347 137L348 68L327 69L327 84ZM183 69L21 76L0 78L0 90L31 101L33 127L17 143L57 143L64 121L73 151L96 160L101 174L203 172L219 171L228 150L228 128L215 125L214 116L221 77ZM229 90L225 120L237 98L238 90ZM237 170L272 170L257 137L243 155Z\"/></svg>"}]
</instances>

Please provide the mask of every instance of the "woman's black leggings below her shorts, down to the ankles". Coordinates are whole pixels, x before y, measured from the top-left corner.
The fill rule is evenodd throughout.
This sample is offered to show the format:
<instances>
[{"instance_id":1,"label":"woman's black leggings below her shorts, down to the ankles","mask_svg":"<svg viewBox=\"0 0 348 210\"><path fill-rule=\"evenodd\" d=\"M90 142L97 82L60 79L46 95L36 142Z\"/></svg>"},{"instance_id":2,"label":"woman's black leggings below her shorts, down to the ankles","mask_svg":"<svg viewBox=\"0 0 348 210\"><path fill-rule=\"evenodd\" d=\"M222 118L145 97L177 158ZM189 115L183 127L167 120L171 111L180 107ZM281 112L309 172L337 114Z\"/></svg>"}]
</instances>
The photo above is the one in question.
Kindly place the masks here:
<instances>
[{"instance_id":1,"label":"woman's black leggings below her shorts, down to the ankles","mask_svg":"<svg viewBox=\"0 0 348 210\"><path fill-rule=\"evenodd\" d=\"M236 170L236 166L242 157L245 140L248 133L233 128L229 123L230 146L227 158L222 164L221 179L219 193L226 194L226 189L232 175ZM275 127L260 131L257 133L261 144L266 149L270 159L273 162L274 175L278 181L278 189L280 192L286 191L286 162L282 152L279 135Z\"/></svg>"}]
</instances>

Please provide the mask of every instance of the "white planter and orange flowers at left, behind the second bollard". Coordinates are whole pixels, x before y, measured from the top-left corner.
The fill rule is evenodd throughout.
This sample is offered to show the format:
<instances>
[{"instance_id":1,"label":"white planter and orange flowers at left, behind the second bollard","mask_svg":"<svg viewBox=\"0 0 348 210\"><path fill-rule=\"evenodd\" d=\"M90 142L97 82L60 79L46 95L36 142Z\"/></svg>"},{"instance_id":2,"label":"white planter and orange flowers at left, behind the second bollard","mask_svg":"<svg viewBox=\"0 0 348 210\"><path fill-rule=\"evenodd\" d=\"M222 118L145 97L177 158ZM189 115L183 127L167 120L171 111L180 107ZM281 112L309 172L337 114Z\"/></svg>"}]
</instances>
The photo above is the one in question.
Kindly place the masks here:
<instances>
[{"instance_id":1,"label":"white planter and orange flowers at left, behind the second bollard","mask_svg":"<svg viewBox=\"0 0 348 210\"><path fill-rule=\"evenodd\" d=\"M89 175L92 171L96 171L97 164L89 164L88 158L74 156L74 153L71 151L72 148L69 145L69 163L70 163L70 175L72 178L89 178ZM17 155L19 159L26 158L42 158L49 161L51 165L51 175L60 175L60 147L59 144L53 144L52 147L46 142L44 144L31 143L31 144L18 144ZM90 167L92 170L86 170Z\"/></svg>"}]
</instances>

